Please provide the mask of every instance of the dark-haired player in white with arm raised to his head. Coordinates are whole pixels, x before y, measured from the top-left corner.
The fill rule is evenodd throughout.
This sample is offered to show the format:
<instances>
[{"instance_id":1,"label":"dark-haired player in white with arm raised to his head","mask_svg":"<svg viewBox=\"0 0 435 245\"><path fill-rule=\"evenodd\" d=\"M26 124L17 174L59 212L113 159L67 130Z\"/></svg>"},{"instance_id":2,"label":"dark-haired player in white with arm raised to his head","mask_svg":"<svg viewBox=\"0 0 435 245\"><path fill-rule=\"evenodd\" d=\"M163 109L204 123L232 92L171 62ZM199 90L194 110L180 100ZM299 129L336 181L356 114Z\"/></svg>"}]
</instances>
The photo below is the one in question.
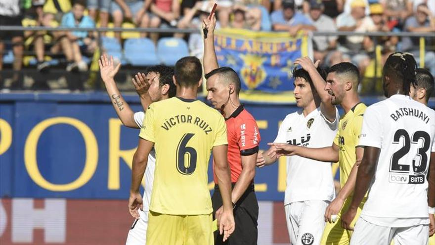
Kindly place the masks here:
<instances>
[{"instance_id":1,"label":"dark-haired player in white with arm raised to his head","mask_svg":"<svg viewBox=\"0 0 435 245\"><path fill-rule=\"evenodd\" d=\"M328 147L334 141L339 113L325 91L326 73L309 58L299 59L303 68L293 72L296 105L301 109L286 116L274 143L257 159L269 165L285 146ZM335 197L331 163L292 155L287 157L284 208L293 245L319 245L325 228L326 207Z\"/></svg>"}]
</instances>

